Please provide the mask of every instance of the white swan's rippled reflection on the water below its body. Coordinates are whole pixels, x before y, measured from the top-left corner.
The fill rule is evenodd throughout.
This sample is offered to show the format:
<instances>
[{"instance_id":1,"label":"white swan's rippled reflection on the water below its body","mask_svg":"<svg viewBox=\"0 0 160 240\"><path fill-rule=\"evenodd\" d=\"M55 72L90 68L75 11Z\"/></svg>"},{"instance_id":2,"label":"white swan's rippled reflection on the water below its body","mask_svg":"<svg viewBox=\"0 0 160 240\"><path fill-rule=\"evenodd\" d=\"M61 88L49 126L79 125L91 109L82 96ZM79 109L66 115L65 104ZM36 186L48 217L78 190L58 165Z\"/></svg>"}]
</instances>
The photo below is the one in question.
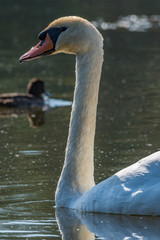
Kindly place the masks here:
<instances>
[{"instance_id":1,"label":"white swan's rippled reflection on the water below its body","mask_svg":"<svg viewBox=\"0 0 160 240\"><path fill-rule=\"evenodd\" d=\"M57 208L56 217L63 240L159 239L160 218L81 213Z\"/></svg>"}]
</instances>

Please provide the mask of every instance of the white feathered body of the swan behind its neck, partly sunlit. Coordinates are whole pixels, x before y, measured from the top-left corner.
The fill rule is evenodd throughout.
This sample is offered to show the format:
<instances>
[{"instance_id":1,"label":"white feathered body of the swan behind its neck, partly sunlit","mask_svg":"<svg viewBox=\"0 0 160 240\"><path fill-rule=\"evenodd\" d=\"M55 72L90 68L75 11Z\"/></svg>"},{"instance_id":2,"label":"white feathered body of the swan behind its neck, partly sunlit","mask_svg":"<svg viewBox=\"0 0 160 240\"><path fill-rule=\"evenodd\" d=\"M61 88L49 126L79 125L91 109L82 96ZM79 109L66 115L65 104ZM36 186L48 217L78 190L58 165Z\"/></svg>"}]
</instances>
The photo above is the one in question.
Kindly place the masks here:
<instances>
[{"instance_id":1,"label":"white feathered body of the swan behind its neck, partly sunlit","mask_svg":"<svg viewBox=\"0 0 160 240\"><path fill-rule=\"evenodd\" d=\"M76 209L133 215L160 215L160 152L102 181L77 202Z\"/></svg>"}]
</instances>

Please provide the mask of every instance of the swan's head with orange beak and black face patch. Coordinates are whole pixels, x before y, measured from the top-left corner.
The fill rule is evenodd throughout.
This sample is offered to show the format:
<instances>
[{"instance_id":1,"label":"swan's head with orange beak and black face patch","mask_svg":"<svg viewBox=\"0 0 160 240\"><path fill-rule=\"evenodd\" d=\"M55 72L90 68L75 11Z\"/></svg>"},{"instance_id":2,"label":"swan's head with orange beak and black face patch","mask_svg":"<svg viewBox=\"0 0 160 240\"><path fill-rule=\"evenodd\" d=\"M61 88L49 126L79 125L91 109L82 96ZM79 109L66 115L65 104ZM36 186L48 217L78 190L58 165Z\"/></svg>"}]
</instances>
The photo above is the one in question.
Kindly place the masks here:
<instances>
[{"instance_id":1,"label":"swan's head with orange beak and black face patch","mask_svg":"<svg viewBox=\"0 0 160 240\"><path fill-rule=\"evenodd\" d=\"M39 39L35 47L20 57L20 62L60 52L83 54L103 45L99 31L87 20L74 16L53 21L40 32Z\"/></svg>"}]
</instances>

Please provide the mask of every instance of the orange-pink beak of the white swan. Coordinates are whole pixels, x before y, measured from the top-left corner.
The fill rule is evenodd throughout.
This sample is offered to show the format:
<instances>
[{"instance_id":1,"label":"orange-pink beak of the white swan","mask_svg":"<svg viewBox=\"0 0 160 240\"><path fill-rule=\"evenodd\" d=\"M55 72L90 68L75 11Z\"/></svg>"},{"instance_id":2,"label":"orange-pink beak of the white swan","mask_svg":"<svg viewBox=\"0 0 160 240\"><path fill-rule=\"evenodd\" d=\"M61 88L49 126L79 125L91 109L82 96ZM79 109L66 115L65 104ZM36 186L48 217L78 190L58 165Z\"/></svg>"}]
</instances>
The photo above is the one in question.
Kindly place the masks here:
<instances>
[{"instance_id":1,"label":"orange-pink beak of the white swan","mask_svg":"<svg viewBox=\"0 0 160 240\"><path fill-rule=\"evenodd\" d=\"M28 52L22 55L19 59L20 63L31 61L33 59L41 58L44 55L49 55L54 51L54 44L49 34L46 38L40 41L35 47L32 47Z\"/></svg>"}]
</instances>

